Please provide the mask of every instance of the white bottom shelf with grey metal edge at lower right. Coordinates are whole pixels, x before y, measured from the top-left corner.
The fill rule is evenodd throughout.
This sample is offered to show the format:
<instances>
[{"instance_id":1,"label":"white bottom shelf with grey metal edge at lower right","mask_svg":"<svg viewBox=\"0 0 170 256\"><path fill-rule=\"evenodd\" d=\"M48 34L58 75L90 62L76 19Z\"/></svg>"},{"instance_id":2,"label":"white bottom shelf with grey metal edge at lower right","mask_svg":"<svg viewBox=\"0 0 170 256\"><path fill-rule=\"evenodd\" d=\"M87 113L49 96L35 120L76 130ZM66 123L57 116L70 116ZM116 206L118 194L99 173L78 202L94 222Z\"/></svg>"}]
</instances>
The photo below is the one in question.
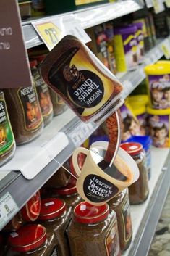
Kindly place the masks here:
<instances>
[{"instance_id":1,"label":"white bottom shelf with grey metal edge at lower right","mask_svg":"<svg viewBox=\"0 0 170 256\"><path fill-rule=\"evenodd\" d=\"M156 223L161 215L170 181L169 149L153 148L152 176L150 178L150 194L142 205L131 206L133 239L132 244L123 256L147 256L156 231Z\"/></svg>"}]
</instances>

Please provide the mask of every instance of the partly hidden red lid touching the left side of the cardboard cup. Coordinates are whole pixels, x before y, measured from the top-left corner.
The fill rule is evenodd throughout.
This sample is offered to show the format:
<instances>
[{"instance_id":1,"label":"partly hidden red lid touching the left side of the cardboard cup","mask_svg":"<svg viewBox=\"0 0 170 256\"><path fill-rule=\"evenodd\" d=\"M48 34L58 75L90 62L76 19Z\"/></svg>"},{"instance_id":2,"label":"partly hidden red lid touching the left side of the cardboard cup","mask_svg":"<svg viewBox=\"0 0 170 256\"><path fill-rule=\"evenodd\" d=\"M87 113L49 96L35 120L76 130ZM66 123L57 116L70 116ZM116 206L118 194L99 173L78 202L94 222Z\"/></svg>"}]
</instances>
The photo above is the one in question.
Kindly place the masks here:
<instances>
[{"instance_id":1,"label":"partly hidden red lid touching the left side of the cardboard cup","mask_svg":"<svg viewBox=\"0 0 170 256\"><path fill-rule=\"evenodd\" d=\"M53 192L54 194L59 194L61 196L75 194L77 193L77 188L75 184L76 184L75 178L71 178L71 181L67 186L64 186L58 189L53 189Z\"/></svg>"}]
</instances>

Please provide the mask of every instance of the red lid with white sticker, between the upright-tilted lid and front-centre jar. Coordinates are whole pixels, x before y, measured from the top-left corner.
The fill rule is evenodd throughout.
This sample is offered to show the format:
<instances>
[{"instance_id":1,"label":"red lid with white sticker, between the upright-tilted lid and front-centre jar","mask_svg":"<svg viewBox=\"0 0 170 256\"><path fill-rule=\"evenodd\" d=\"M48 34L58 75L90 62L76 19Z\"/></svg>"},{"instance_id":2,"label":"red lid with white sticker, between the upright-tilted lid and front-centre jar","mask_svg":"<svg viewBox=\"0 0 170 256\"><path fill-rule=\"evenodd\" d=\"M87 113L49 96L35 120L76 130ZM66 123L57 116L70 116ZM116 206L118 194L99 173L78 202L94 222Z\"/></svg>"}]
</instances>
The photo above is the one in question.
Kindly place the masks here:
<instances>
[{"instance_id":1,"label":"red lid with white sticker, between the upright-tilted lid and front-centre jar","mask_svg":"<svg viewBox=\"0 0 170 256\"><path fill-rule=\"evenodd\" d=\"M47 198L41 200L41 212L39 220L51 220L61 216L66 210L64 200L58 198Z\"/></svg>"}]
</instances>

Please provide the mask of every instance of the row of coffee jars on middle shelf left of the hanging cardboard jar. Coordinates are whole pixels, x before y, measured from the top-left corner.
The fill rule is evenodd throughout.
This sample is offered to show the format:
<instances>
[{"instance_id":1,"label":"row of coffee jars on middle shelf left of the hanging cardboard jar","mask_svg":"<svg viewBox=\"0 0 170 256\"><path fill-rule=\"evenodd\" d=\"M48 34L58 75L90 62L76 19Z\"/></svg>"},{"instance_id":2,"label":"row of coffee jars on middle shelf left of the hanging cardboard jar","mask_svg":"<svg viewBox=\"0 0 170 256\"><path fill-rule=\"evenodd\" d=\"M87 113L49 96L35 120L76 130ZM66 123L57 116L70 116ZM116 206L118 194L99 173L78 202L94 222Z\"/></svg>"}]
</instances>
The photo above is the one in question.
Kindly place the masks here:
<instances>
[{"instance_id":1,"label":"row of coffee jars on middle shelf left of the hanging cardboard jar","mask_svg":"<svg viewBox=\"0 0 170 256\"><path fill-rule=\"evenodd\" d=\"M15 144L25 144L39 136L53 116L66 105L43 82L37 69L43 56L30 61L33 86L0 91L0 165L14 156Z\"/></svg>"}]
</instances>

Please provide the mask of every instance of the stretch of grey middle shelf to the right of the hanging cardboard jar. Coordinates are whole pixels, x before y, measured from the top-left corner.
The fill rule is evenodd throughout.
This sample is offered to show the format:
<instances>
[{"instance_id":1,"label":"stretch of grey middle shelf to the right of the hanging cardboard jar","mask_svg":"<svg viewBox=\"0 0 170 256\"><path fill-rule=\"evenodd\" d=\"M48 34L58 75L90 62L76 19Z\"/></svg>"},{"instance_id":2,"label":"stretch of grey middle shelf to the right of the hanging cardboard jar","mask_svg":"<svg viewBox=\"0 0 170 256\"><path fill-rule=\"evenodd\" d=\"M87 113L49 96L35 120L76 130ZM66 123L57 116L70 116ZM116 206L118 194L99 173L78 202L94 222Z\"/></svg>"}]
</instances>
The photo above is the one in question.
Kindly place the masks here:
<instances>
[{"instance_id":1,"label":"stretch of grey middle shelf to the right of the hanging cardboard jar","mask_svg":"<svg viewBox=\"0 0 170 256\"><path fill-rule=\"evenodd\" d=\"M145 65L153 64L163 57L163 51L161 50L161 44L166 41L167 38L158 40L156 46L145 54L144 62L142 65L138 65L136 70L129 71L127 73L118 73L116 77L123 83L124 92L123 98L126 97L145 79L145 73L143 68ZM168 37L170 44L170 36Z\"/></svg>"}]
</instances>

